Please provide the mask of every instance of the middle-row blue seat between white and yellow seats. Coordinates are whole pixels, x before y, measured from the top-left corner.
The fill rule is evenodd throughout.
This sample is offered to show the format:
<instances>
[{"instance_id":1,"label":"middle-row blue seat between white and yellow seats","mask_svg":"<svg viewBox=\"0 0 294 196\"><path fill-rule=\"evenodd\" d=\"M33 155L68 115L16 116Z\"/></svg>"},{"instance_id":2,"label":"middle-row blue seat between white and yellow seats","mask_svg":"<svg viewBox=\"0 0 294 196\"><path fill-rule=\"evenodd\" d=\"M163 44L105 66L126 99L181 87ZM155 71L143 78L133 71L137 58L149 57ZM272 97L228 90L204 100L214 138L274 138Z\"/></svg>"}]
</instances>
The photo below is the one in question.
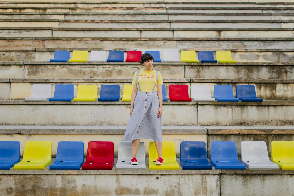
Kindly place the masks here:
<instances>
[{"instance_id":1,"label":"middle-row blue seat between white and yellow seats","mask_svg":"<svg viewBox=\"0 0 294 196\"><path fill-rule=\"evenodd\" d=\"M73 84L56 84L54 97L49 98L49 101L71 101L74 99Z\"/></svg>"}]
</instances>

